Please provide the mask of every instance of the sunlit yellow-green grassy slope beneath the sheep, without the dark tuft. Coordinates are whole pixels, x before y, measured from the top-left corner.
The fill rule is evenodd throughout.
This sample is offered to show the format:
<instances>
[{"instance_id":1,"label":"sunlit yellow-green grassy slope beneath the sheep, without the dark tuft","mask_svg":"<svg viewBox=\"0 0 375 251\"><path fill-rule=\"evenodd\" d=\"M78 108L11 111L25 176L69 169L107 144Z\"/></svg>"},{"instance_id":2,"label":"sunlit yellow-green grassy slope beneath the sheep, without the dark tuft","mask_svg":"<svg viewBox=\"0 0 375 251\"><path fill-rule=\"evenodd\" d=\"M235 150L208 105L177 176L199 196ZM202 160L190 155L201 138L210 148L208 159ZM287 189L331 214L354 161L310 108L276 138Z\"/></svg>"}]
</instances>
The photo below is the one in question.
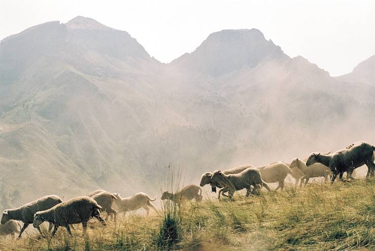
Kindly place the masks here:
<instances>
[{"instance_id":1,"label":"sunlit yellow-green grassy slope beneath the sheep, without the dark tuft","mask_svg":"<svg viewBox=\"0 0 375 251\"><path fill-rule=\"evenodd\" d=\"M183 250L375 250L373 182L311 184L301 190L263 193L233 201L204 200L182 211ZM84 237L77 225L70 238L25 235L6 238L1 250L158 250L162 214L132 215L107 228L90 224Z\"/></svg>"}]
</instances>

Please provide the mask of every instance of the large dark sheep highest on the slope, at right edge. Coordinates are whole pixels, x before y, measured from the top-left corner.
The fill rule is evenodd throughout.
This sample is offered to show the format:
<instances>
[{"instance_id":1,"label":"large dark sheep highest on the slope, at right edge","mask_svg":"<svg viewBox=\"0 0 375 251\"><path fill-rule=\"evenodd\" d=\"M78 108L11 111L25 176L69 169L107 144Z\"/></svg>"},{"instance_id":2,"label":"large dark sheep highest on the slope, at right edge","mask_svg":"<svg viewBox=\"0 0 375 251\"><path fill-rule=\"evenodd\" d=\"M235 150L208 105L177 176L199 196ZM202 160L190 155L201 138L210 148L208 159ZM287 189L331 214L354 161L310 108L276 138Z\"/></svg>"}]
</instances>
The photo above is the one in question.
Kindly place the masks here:
<instances>
[{"instance_id":1,"label":"large dark sheep highest on the slope, at right edge","mask_svg":"<svg viewBox=\"0 0 375 251\"><path fill-rule=\"evenodd\" d=\"M310 166L319 162L328 166L333 173L331 184L336 179L337 174L343 180L344 172L351 174L350 172L364 164L368 168L366 177L369 177L373 176L375 171L375 164L373 162L374 150L375 146L361 141L331 154L312 153L308 161L306 161L306 165Z\"/></svg>"}]
</instances>

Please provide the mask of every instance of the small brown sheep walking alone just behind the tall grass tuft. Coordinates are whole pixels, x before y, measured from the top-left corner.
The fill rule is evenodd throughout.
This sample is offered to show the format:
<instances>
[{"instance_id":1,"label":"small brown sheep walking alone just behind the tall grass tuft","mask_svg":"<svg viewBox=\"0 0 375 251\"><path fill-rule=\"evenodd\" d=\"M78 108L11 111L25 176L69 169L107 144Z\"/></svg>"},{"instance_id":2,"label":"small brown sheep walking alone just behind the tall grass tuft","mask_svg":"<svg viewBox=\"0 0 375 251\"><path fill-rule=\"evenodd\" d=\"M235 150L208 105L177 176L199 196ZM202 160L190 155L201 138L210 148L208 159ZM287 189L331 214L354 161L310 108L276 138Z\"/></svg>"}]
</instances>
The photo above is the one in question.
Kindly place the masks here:
<instances>
[{"instance_id":1,"label":"small brown sheep walking alone just behind the tall grass tuft","mask_svg":"<svg viewBox=\"0 0 375 251\"><path fill-rule=\"evenodd\" d=\"M163 192L161 199L169 199L178 204L181 204L183 201L195 199L195 201L200 202L203 199L202 189L197 185L187 185L176 193L170 193L168 191Z\"/></svg>"}]
</instances>

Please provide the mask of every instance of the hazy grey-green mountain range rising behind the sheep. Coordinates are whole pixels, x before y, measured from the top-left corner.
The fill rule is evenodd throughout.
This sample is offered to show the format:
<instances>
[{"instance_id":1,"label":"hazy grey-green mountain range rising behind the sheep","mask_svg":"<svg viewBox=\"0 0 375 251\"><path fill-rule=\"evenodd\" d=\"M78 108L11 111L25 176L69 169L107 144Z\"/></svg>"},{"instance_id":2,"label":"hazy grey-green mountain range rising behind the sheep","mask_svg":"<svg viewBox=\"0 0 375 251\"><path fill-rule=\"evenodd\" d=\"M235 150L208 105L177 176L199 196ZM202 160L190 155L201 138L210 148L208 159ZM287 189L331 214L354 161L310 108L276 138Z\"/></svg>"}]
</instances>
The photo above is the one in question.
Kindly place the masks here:
<instances>
[{"instance_id":1,"label":"hazy grey-green mountain range rising behind the sheep","mask_svg":"<svg viewBox=\"0 0 375 251\"><path fill-rule=\"evenodd\" d=\"M236 164L375 143L374 69L372 56L331 77L257 29L212 33L163 64L90 18L33 26L0 43L3 193L153 196L169 163L196 183Z\"/></svg>"}]
</instances>

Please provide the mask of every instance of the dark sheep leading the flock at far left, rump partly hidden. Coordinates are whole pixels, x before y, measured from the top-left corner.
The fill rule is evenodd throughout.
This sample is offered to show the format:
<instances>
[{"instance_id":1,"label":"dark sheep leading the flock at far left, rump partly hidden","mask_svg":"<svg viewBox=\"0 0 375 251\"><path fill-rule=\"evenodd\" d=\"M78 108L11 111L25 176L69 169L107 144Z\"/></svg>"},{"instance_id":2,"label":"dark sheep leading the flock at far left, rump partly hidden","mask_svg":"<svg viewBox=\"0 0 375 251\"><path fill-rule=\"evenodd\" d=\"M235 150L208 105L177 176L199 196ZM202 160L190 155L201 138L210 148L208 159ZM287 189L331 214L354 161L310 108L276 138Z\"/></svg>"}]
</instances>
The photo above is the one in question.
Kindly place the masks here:
<instances>
[{"instance_id":1,"label":"dark sheep leading the flock at far left, rump partly hidden","mask_svg":"<svg viewBox=\"0 0 375 251\"><path fill-rule=\"evenodd\" d=\"M5 224L9 220L22 221L23 227L21 228L21 231L18 235L18 238L20 238L23 231L27 228L29 224L32 223L33 216L35 213L37 213L38 211L47 210L61 202L62 200L60 197L56 195L47 195L37 200L31 201L27 204L24 204L23 206L5 210L3 212L1 224ZM50 224L49 230L51 230L51 227L52 225ZM42 234L39 225L37 229Z\"/></svg>"}]
</instances>

